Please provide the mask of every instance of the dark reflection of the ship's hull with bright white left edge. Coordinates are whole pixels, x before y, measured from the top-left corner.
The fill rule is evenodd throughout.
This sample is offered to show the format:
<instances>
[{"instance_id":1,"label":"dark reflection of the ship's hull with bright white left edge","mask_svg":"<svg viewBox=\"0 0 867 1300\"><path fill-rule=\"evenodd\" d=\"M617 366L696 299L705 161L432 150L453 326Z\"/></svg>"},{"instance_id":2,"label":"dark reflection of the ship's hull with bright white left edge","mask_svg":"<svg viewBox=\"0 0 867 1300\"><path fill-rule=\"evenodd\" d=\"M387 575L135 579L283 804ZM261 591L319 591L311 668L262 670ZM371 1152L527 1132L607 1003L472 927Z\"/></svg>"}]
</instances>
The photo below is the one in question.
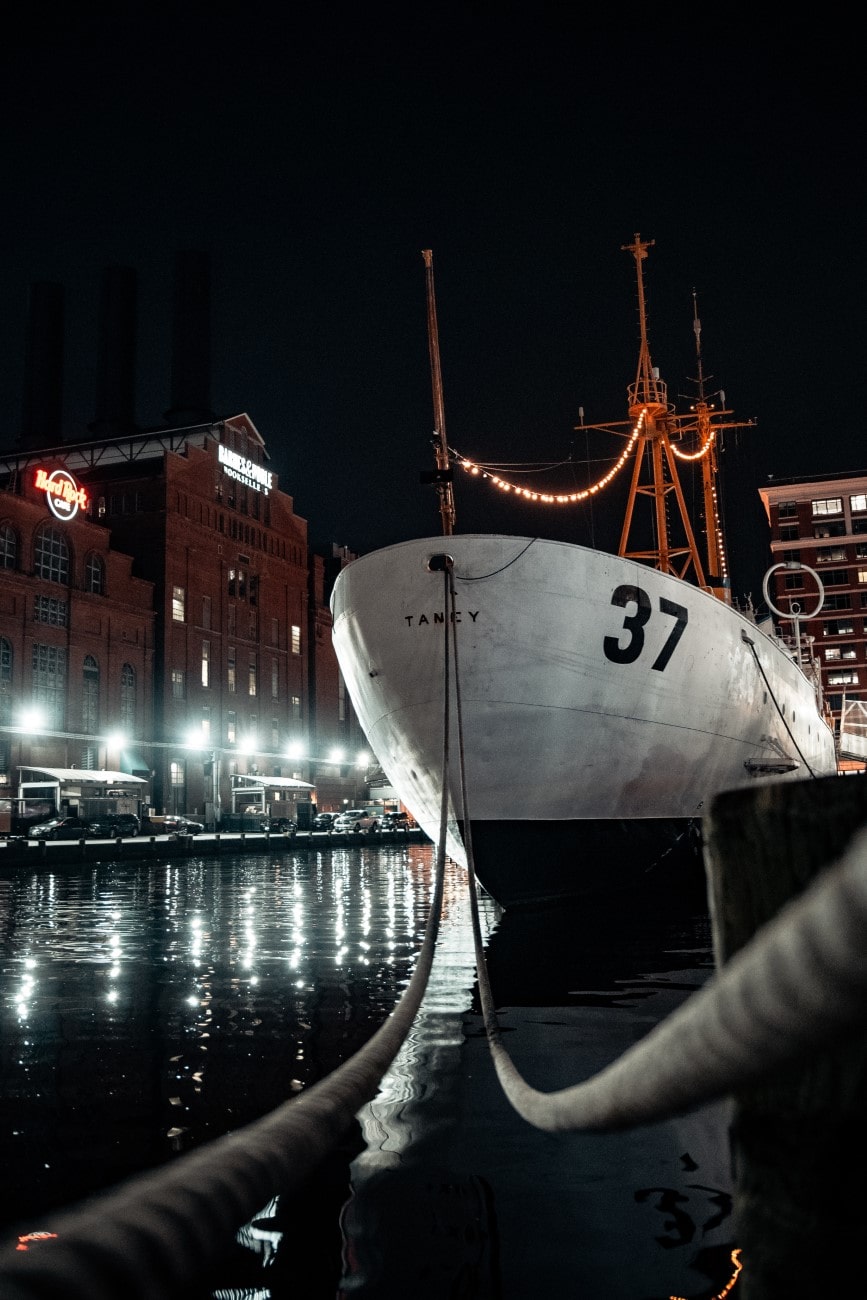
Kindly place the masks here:
<instances>
[{"instance_id":1,"label":"dark reflection of the ship's hull with bright white left edge","mask_svg":"<svg viewBox=\"0 0 867 1300\"><path fill-rule=\"evenodd\" d=\"M706 909L682 898L493 910L484 932L504 1044L542 1091L598 1072L712 970ZM464 905L359 1118L342 1300L705 1300L732 1277L728 1105L616 1135L528 1126L490 1061Z\"/></svg>"}]
</instances>

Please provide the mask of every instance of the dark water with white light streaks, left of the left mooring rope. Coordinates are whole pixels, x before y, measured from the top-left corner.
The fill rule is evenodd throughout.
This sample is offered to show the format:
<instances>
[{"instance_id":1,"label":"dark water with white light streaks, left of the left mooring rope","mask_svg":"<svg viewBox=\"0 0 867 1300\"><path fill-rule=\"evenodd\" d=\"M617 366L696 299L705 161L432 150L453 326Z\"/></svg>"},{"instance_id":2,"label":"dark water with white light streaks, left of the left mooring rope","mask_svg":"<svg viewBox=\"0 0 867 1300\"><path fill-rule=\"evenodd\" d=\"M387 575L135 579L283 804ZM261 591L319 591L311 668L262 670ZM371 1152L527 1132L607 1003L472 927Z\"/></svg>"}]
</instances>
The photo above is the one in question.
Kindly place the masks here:
<instances>
[{"instance_id":1,"label":"dark water with white light streaks, left of the left mooring rope","mask_svg":"<svg viewBox=\"0 0 867 1300\"><path fill-rule=\"evenodd\" d=\"M39 1222L274 1109L406 987L425 846L0 879L4 1222Z\"/></svg>"}]
</instances>

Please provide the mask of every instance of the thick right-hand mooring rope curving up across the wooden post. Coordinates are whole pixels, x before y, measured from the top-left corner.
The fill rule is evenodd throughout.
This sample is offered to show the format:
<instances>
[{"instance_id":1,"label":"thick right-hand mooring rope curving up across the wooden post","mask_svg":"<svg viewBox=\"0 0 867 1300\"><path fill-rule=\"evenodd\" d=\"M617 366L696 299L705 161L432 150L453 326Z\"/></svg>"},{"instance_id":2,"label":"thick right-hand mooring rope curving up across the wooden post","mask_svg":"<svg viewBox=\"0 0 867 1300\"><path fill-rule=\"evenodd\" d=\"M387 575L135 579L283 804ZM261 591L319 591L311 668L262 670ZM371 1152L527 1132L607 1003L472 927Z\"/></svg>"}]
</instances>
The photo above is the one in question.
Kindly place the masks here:
<instances>
[{"instance_id":1,"label":"thick right-hand mooring rope curving up across the wooden post","mask_svg":"<svg viewBox=\"0 0 867 1300\"><path fill-rule=\"evenodd\" d=\"M463 745L456 597L450 584L461 818L485 1031L512 1108L547 1132L669 1119L772 1074L867 1020L867 829L679 1010L591 1079L539 1092L503 1046L478 920Z\"/></svg>"}]
</instances>

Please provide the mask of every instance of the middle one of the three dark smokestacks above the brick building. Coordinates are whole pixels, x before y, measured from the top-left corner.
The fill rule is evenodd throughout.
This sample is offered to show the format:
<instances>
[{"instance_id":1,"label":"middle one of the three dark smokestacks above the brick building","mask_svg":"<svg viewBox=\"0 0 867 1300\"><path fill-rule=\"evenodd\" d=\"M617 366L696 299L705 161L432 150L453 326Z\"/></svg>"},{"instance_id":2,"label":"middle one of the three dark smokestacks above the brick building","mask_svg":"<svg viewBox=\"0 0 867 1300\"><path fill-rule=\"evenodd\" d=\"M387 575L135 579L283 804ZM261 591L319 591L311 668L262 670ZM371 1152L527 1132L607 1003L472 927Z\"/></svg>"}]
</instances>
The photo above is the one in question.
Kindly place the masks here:
<instances>
[{"instance_id":1,"label":"middle one of the three dark smokestacks above the brick building","mask_svg":"<svg viewBox=\"0 0 867 1300\"><path fill-rule=\"evenodd\" d=\"M135 272L108 266L100 298L96 419L87 425L104 437L135 433Z\"/></svg>"}]
</instances>

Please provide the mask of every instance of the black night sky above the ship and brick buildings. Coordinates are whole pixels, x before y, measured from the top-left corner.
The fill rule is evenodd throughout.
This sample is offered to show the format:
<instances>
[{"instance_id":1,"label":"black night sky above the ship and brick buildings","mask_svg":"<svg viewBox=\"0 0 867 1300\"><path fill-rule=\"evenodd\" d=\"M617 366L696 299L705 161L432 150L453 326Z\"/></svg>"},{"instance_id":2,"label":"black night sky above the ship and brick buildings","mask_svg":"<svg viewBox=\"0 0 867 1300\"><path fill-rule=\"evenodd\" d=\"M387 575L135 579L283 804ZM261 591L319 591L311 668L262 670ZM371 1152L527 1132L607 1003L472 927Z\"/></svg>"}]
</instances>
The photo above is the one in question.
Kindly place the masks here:
<instances>
[{"instance_id":1,"label":"black night sky above the ship and brick buildings","mask_svg":"<svg viewBox=\"0 0 867 1300\"><path fill-rule=\"evenodd\" d=\"M669 395L694 391L694 290L707 387L757 421L727 436L721 468L733 589L759 597L757 488L867 471L854 35L815 16L690 35L653 10L616 26L568 5L316 12L34 6L6 35L3 445L21 429L34 282L64 286L78 441L103 270L136 272L135 416L152 428L172 404L174 259L207 252L212 408L251 416L311 541L361 552L435 534L420 484L432 248L450 443L567 460L582 486L585 456L617 448L573 432L580 408L627 419L638 330L621 246L640 231ZM552 515L459 474L455 498L460 532L616 543L616 493Z\"/></svg>"}]
</instances>

